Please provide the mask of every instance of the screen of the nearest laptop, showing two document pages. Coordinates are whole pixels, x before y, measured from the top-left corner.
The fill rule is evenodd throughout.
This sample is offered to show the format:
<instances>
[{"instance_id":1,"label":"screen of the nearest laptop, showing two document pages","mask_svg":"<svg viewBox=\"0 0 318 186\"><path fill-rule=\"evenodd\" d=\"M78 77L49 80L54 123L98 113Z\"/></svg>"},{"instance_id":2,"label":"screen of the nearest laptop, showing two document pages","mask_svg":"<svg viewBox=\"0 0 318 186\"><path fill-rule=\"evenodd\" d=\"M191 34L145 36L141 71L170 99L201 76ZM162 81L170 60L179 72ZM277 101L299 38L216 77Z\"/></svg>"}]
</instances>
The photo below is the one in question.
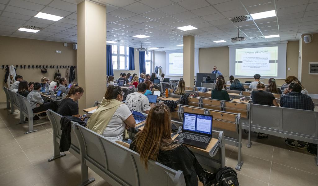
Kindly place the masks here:
<instances>
[{"instance_id":1,"label":"screen of the nearest laptop, showing two document pages","mask_svg":"<svg viewBox=\"0 0 318 186\"><path fill-rule=\"evenodd\" d=\"M212 116L183 113L183 130L212 135Z\"/></svg>"}]
</instances>

